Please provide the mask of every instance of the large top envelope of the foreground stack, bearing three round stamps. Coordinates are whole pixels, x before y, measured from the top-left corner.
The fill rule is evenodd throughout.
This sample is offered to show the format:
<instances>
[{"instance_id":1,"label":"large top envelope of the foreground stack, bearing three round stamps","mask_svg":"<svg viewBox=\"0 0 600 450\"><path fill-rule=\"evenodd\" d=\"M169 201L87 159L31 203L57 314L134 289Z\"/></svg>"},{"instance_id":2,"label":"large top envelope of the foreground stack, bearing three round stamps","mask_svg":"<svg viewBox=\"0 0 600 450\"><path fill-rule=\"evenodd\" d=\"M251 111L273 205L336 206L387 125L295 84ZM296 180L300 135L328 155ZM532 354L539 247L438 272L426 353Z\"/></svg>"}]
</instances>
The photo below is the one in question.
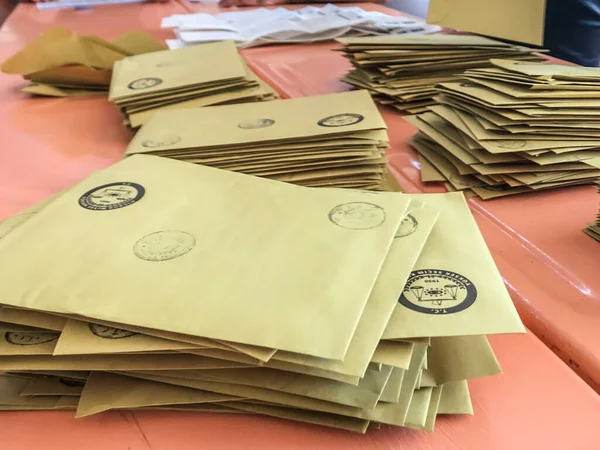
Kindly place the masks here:
<instances>
[{"instance_id":1,"label":"large top envelope of the foreground stack, bearing three round stamps","mask_svg":"<svg viewBox=\"0 0 600 450\"><path fill-rule=\"evenodd\" d=\"M189 207L200 198L202 207ZM341 360L408 204L403 194L307 189L136 156L93 174L2 239L0 293L12 306ZM65 227L65 215L78 226ZM66 244L92 222L93 240ZM63 258L42 264L46 251ZM110 264L81 270L86 258ZM259 270L245 272L249 260ZM34 299L36 278L46 288ZM176 309L166 302L174 296ZM269 314L256 315L259 304Z\"/></svg>"}]
</instances>

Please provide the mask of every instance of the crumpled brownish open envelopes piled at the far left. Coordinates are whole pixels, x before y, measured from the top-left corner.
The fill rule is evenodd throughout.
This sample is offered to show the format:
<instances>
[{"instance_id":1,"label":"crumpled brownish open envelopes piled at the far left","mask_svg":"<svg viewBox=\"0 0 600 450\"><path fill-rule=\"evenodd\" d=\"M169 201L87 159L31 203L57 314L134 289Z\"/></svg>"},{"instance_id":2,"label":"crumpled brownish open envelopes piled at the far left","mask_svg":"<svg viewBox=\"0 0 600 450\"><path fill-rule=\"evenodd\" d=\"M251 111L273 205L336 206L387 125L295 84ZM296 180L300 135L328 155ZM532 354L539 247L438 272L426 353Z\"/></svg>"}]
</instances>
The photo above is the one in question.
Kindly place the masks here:
<instances>
[{"instance_id":1,"label":"crumpled brownish open envelopes piled at the far left","mask_svg":"<svg viewBox=\"0 0 600 450\"><path fill-rule=\"evenodd\" d=\"M105 41L53 28L2 64L2 72L22 75L23 92L51 97L106 95L113 64L123 58L165 50L143 32Z\"/></svg>"}]
</instances>

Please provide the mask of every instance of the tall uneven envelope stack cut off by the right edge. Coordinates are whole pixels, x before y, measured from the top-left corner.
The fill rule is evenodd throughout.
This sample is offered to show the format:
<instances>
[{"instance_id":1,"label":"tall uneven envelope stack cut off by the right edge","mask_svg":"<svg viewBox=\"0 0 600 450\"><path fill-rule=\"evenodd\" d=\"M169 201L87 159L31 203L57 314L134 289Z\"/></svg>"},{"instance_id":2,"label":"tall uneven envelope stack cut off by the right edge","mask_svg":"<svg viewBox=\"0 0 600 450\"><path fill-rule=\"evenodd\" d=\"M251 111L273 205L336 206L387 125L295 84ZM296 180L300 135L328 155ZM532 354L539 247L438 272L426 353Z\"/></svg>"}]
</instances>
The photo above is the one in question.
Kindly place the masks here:
<instances>
[{"instance_id":1,"label":"tall uneven envelope stack cut off by the right edge","mask_svg":"<svg viewBox=\"0 0 600 450\"><path fill-rule=\"evenodd\" d=\"M600 69L493 59L407 118L424 181L483 199L600 177Z\"/></svg>"}]
</instances>

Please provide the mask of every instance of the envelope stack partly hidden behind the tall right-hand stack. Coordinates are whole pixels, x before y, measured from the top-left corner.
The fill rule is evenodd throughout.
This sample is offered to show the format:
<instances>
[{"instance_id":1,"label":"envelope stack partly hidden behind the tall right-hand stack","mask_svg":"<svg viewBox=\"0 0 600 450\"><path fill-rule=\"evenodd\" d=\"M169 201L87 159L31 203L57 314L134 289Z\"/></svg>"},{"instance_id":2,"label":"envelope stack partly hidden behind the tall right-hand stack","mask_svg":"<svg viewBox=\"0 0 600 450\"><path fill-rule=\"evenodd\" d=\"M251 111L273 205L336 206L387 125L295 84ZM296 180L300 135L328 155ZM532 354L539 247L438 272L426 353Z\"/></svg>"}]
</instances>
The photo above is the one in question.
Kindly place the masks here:
<instances>
[{"instance_id":1,"label":"envelope stack partly hidden behind the tall right-hand stack","mask_svg":"<svg viewBox=\"0 0 600 450\"><path fill-rule=\"evenodd\" d=\"M338 39L355 67L342 81L368 89L384 105L416 114L435 104L435 85L490 58L539 61L534 50L480 36L432 34Z\"/></svg>"}]
</instances>

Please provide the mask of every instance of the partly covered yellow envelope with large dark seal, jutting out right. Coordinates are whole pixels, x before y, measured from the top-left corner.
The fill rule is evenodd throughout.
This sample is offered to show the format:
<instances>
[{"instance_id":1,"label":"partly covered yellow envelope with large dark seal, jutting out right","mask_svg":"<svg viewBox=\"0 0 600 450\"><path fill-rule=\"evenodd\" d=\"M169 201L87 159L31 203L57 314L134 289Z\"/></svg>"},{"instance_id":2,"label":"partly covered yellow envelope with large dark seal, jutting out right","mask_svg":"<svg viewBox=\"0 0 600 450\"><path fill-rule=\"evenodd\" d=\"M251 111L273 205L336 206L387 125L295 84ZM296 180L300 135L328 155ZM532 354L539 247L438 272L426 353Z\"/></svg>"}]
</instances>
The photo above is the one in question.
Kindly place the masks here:
<instances>
[{"instance_id":1,"label":"partly covered yellow envelope with large dark seal, jutting out right","mask_svg":"<svg viewBox=\"0 0 600 450\"><path fill-rule=\"evenodd\" d=\"M524 333L463 195L410 197L440 215L383 338Z\"/></svg>"}]
</instances>

